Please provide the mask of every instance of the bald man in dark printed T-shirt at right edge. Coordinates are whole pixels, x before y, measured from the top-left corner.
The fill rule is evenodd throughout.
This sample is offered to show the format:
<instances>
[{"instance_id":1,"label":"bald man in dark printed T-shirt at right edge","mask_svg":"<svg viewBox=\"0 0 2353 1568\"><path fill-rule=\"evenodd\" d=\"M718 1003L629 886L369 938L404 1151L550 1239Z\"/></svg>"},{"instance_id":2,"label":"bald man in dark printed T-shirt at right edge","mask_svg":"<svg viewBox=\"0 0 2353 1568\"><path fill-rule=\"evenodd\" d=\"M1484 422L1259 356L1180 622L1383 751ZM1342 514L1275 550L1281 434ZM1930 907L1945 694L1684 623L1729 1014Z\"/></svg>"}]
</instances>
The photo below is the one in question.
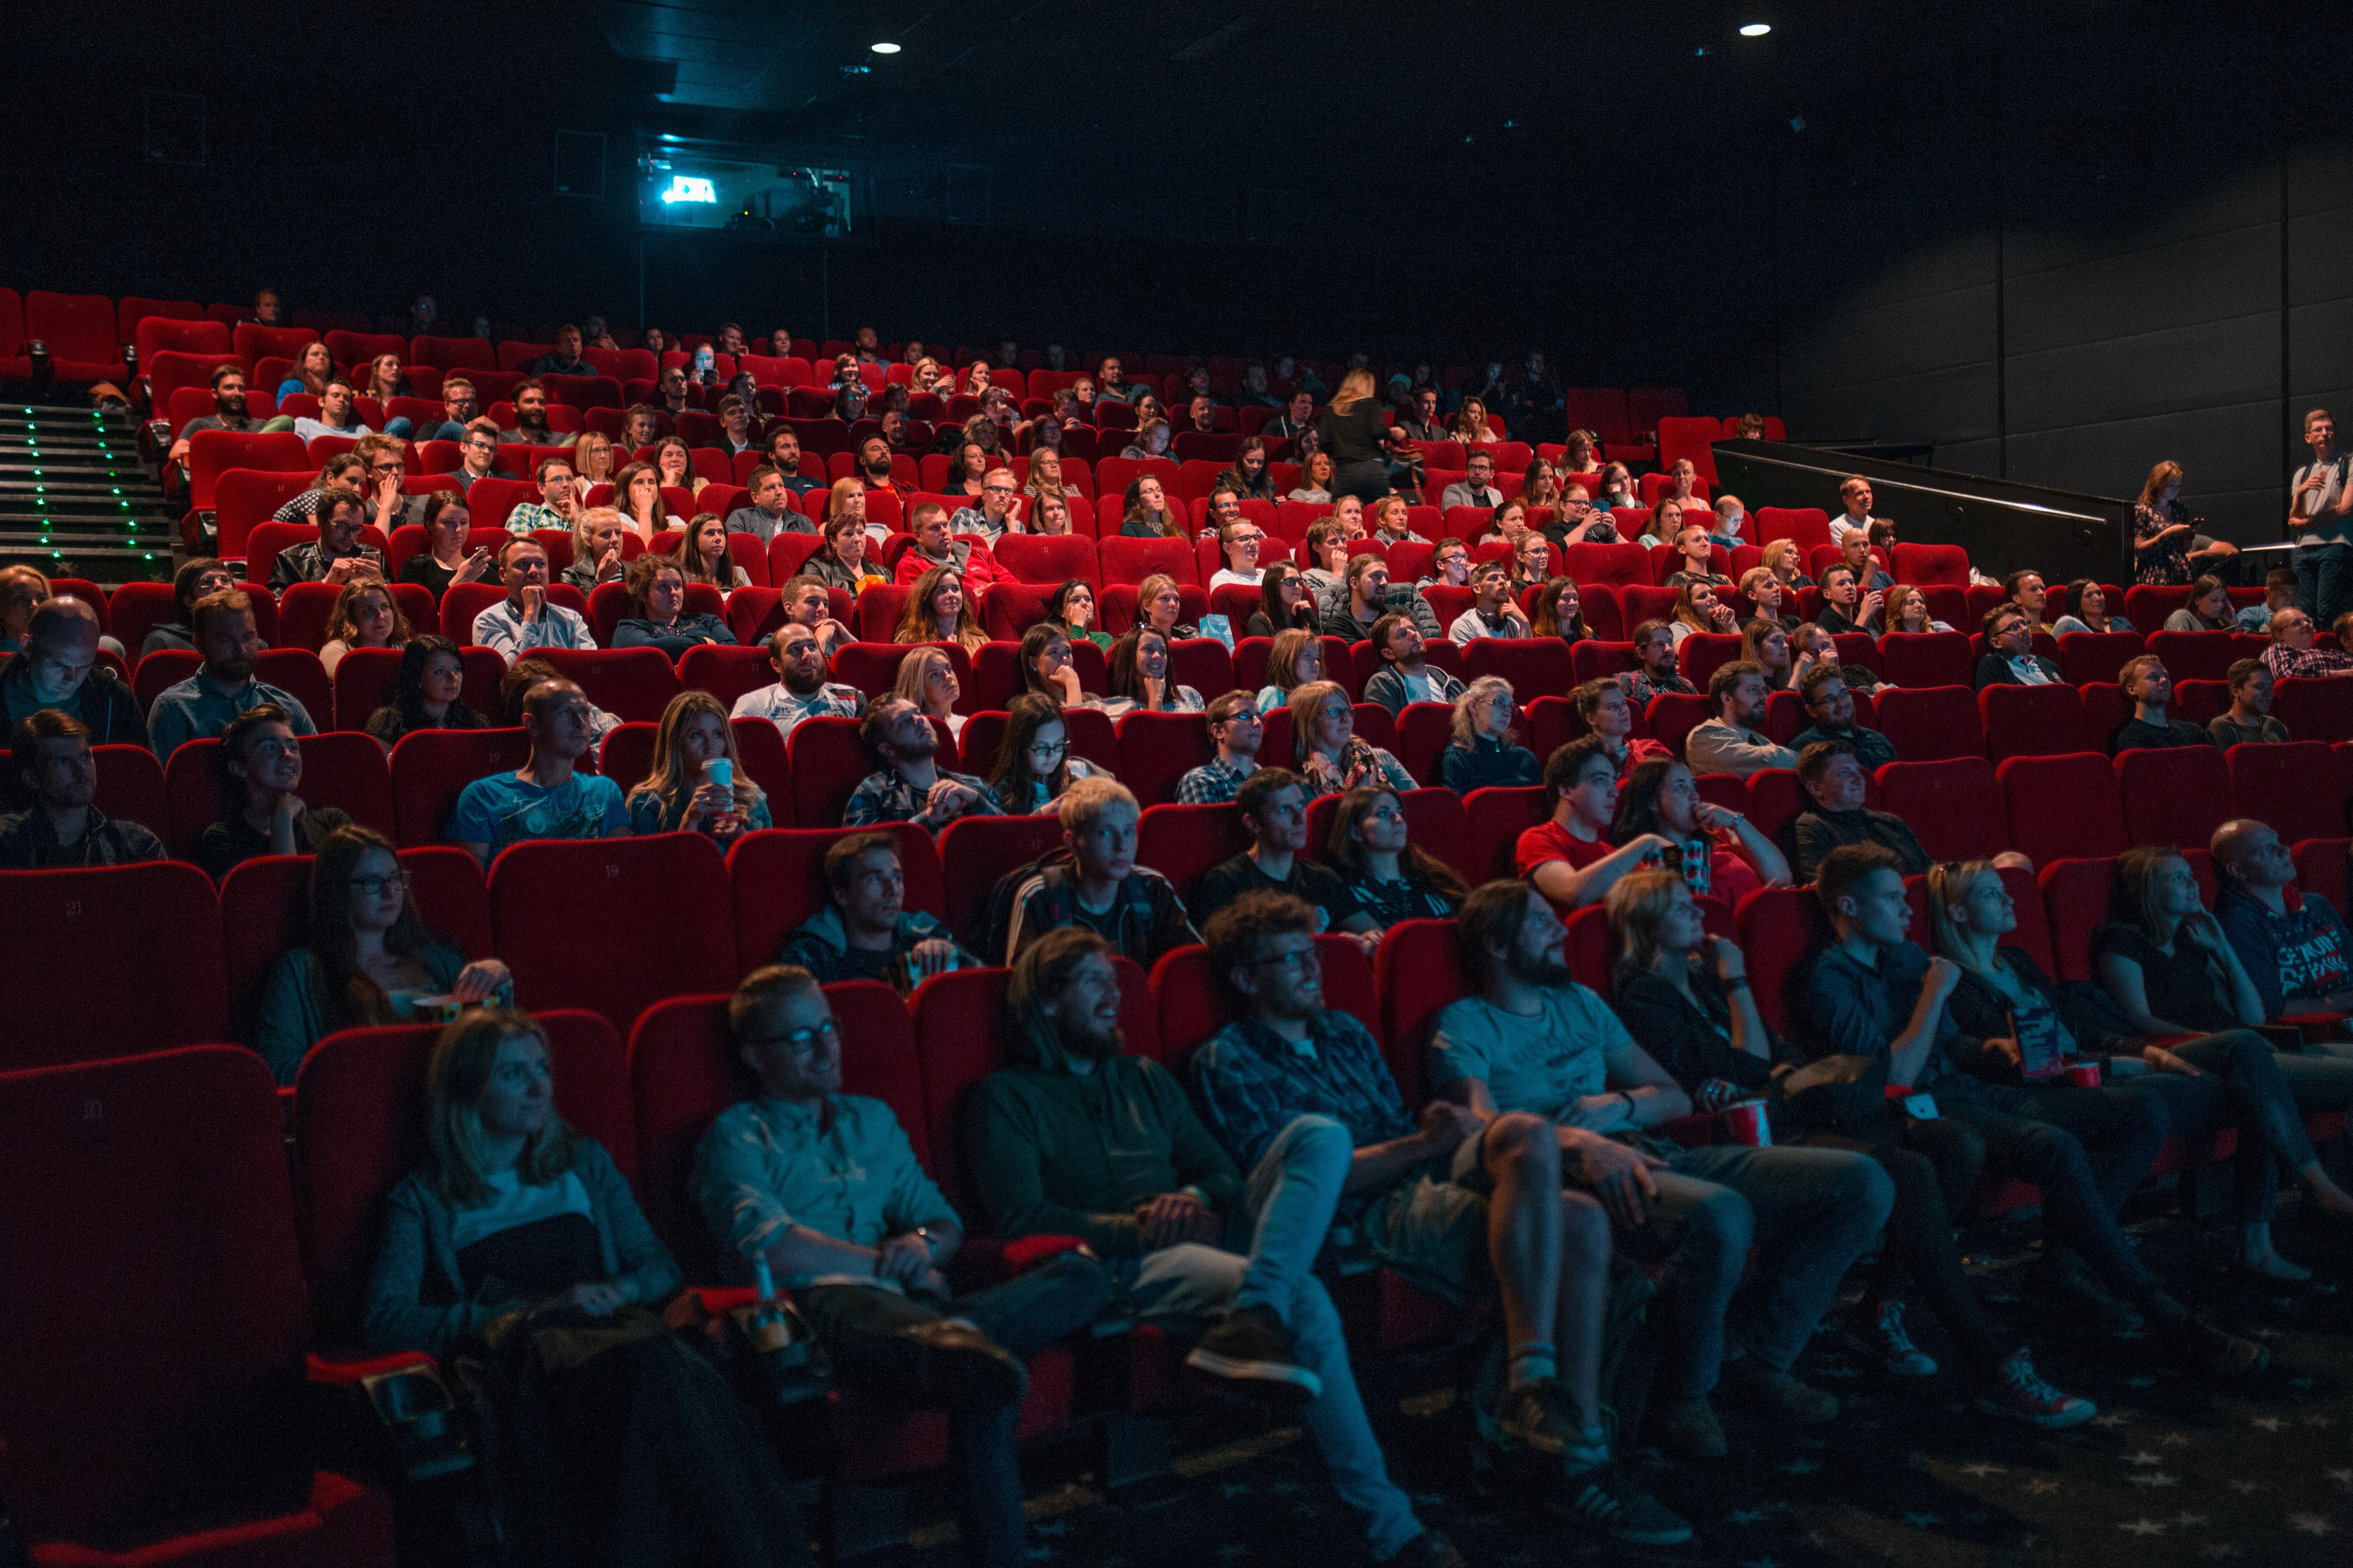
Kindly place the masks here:
<instances>
[{"instance_id":1,"label":"bald man in dark printed T-shirt at right edge","mask_svg":"<svg viewBox=\"0 0 2353 1568\"><path fill-rule=\"evenodd\" d=\"M2264 1018L2353 1013L2353 933L2320 893L2297 886L2297 858L2252 818L2214 830L2214 922L2264 997Z\"/></svg>"}]
</instances>

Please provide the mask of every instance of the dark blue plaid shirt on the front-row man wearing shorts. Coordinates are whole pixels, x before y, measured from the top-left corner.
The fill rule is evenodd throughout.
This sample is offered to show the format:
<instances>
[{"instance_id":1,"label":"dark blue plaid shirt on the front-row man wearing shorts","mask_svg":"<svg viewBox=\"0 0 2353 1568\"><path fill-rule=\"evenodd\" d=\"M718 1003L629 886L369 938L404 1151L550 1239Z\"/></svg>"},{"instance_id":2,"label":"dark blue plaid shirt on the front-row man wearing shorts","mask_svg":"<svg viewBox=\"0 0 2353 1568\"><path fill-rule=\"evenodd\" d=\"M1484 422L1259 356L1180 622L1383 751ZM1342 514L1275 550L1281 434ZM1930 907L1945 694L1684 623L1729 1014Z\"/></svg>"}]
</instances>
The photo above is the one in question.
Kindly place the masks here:
<instances>
[{"instance_id":1,"label":"dark blue plaid shirt on the front-row man wearing shorts","mask_svg":"<svg viewBox=\"0 0 2353 1568\"><path fill-rule=\"evenodd\" d=\"M1299 1117L1332 1117L1355 1147L1417 1128L1381 1046L1353 1013L1315 1013L1308 1044L1313 1051L1301 1051L1257 1018L1238 1018L1193 1053L1202 1121L1245 1171ZM1379 1190L1351 1192L1339 1213L1353 1220L1379 1197Z\"/></svg>"}]
</instances>

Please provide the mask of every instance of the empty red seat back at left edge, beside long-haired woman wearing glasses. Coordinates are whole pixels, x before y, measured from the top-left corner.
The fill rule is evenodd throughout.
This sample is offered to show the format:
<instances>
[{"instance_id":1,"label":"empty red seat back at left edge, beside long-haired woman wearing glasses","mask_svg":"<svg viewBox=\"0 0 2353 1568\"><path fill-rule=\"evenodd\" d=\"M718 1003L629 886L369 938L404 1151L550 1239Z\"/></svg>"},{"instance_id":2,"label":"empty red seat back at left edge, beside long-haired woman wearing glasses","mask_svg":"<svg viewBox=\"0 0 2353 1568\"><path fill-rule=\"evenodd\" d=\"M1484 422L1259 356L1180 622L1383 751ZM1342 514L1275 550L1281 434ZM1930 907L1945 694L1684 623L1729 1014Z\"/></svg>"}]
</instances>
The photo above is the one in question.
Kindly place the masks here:
<instances>
[{"instance_id":1,"label":"empty red seat back at left edge, beside long-haired woman wearing glasses","mask_svg":"<svg viewBox=\"0 0 2353 1568\"><path fill-rule=\"evenodd\" d=\"M184 860L0 875L24 1006L0 1072L226 1039L221 910Z\"/></svg>"}]
</instances>

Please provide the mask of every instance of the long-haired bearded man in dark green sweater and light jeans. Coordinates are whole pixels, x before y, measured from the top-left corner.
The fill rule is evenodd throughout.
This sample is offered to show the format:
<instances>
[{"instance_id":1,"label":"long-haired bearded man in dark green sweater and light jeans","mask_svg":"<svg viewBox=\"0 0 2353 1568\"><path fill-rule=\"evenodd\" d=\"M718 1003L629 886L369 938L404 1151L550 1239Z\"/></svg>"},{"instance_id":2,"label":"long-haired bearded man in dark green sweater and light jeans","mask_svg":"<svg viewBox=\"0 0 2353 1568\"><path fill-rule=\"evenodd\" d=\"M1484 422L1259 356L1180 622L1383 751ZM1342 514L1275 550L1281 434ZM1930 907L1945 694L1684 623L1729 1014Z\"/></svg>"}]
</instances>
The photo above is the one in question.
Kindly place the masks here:
<instances>
[{"instance_id":1,"label":"long-haired bearded man in dark green sweater and light jeans","mask_svg":"<svg viewBox=\"0 0 2353 1568\"><path fill-rule=\"evenodd\" d=\"M1082 926L1049 931L1005 990L1009 1065L965 1098L965 1171L993 1229L1080 1237L1134 1312L1172 1331L1207 1321L1186 1361L1304 1403L1377 1561L1461 1563L1388 1479L1339 1312L1315 1276L1346 1133L1304 1117L1245 1182L1176 1079L1120 1046L1108 945Z\"/></svg>"}]
</instances>

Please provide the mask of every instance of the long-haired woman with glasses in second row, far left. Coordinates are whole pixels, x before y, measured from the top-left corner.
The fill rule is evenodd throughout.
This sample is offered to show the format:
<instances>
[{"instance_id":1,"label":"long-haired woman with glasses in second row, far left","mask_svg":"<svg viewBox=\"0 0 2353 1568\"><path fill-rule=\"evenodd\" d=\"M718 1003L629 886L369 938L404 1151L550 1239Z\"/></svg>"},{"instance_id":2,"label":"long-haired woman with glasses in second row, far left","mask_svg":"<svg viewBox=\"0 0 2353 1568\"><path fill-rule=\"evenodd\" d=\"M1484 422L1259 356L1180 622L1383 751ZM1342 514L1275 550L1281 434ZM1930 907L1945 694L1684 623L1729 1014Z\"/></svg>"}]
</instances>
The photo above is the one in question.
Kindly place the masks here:
<instances>
[{"instance_id":1,"label":"long-haired woman with glasses in second row, far left","mask_svg":"<svg viewBox=\"0 0 2353 1568\"><path fill-rule=\"evenodd\" d=\"M381 832L341 827L320 839L308 914L304 945L278 959L254 1011L252 1046L280 1084L292 1084L311 1046L336 1030L414 1023L419 1001L508 1001L506 964L468 964L454 940L426 926Z\"/></svg>"}]
</instances>

